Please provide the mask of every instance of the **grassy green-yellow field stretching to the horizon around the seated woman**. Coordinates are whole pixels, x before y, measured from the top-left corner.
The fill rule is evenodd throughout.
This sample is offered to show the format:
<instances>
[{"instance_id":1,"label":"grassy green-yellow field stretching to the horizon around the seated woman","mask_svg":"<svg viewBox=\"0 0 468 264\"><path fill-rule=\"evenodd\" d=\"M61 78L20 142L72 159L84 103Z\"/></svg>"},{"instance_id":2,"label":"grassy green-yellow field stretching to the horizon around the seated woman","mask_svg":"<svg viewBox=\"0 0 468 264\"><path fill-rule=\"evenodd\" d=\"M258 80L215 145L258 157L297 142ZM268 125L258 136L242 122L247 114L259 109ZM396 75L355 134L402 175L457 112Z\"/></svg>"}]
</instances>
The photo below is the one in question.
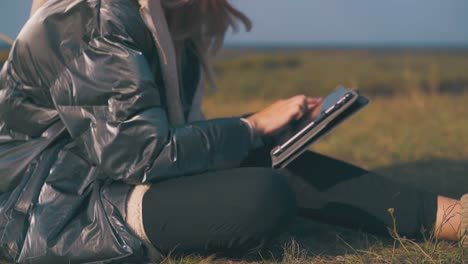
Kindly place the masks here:
<instances>
[{"instance_id":1,"label":"grassy green-yellow field stretching to the horizon around the seated woman","mask_svg":"<svg viewBox=\"0 0 468 264\"><path fill-rule=\"evenodd\" d=\"M371 105L314 151L450 197L468 192L468 50L227 50L215 70L219 89L208 89L203 105L210 118L298 93L323 96L339 84L359 87ZM468 250L457 243L415 242L397 231L382 238L297 219L260 258L164 262L468 263Z\"/></svg>"}]
</instances>

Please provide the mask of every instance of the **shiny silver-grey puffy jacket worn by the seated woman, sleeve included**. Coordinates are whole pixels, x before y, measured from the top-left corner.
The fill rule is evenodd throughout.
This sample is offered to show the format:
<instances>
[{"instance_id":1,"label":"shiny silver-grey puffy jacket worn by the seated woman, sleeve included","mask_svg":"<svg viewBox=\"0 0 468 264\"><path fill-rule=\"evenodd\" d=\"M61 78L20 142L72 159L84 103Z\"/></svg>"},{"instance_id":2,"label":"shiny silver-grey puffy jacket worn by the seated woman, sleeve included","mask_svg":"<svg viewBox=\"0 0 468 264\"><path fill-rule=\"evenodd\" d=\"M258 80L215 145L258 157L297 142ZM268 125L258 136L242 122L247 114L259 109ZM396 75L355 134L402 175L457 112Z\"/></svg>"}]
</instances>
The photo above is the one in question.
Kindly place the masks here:
<instances>
[{"instance_id":1,"label":"shiny silver-grey puffy jacket worn by the seated woman, sleeve included","mask_svg":"<svg viewBox=\"0 0 468 264\"><path fill-rule=\"evenodd\" d=\"M184 113L200 65L182 59ZM26 263L144 257L125 225L132 185L240 162L240 118L170 125L160 60L135 0L51 0L0 74L0 243Z\"/></svg>"}]
</instances>

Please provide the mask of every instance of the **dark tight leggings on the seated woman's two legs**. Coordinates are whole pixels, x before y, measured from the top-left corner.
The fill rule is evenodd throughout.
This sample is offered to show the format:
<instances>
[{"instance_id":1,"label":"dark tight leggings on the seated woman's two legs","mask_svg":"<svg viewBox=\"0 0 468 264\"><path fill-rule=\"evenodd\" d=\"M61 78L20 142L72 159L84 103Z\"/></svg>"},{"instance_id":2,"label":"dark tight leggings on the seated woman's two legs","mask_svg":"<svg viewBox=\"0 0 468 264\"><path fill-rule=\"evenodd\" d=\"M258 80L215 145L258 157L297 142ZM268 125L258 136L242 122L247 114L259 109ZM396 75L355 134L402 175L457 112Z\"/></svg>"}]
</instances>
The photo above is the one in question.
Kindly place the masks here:
<instances>
[{"instance_id":1,"label":"dark tight leggings on the seated woman's two legs","mask_svg":"<svg viewBox=\"0 0 468 264\"><path fill-rule=\"evenodd\" d=\"M143 198L143 225L163 254L237 255L256 251L299 215L388 234L418 237L435 223L437 196L353 165L306 152L287 169L269 168L260 149L240 168L154 184Z\"/></svg>"}]
</instances>

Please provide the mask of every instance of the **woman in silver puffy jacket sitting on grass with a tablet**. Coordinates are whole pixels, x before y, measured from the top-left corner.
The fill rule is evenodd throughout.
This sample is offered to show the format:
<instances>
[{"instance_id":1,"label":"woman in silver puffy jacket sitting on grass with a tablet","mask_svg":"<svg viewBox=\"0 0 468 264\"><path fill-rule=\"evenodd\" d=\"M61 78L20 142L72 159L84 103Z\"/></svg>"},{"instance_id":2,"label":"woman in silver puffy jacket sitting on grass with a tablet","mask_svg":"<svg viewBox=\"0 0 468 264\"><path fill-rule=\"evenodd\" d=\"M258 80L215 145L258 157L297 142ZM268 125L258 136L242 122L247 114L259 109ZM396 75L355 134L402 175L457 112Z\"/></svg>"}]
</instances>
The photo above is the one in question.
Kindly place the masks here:
<instances>
[{"instance_id":1,"label":"woman in silver puffy jacket sitting on grass with a tablet","mask_svg":"<svg viewBox=\"0 0 468 264\"><path fill-rule=\"evenodd\" d=\"M296 214L386 234L388 208L405 235L435 225L440 238L463 236L465 201L312 152L270 169L261 139L320 99L203 120L201 73L214 84L207 54L229 27L250 27L226 0L49 0L33 13L0 75L5 258L239 255Z\"/></svg>"}]
</instances>

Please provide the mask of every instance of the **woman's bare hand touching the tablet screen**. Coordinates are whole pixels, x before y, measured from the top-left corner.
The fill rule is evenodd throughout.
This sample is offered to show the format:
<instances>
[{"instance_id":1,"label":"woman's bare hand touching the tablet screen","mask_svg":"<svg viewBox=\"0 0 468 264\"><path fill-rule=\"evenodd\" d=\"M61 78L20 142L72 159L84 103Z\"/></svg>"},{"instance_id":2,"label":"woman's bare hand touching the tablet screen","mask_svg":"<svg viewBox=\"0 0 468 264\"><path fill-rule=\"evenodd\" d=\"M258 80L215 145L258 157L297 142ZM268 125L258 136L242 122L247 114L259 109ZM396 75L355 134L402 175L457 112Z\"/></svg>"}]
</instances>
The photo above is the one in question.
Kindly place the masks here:
<instances>
[{"instance_id":1,"label":"woman's bare hand touching the tablet screen","mask_svg":"<svg viewBox=\"0 0 468 264\"><path fill-rule=\"evenodd\" d=\"M299 120L304 115L317 116L320 111L322 98L296 95L279 100L247 120L252 124L257 135L267 136L284 129L292 120Z\"/></svg>"}]
</instances>

